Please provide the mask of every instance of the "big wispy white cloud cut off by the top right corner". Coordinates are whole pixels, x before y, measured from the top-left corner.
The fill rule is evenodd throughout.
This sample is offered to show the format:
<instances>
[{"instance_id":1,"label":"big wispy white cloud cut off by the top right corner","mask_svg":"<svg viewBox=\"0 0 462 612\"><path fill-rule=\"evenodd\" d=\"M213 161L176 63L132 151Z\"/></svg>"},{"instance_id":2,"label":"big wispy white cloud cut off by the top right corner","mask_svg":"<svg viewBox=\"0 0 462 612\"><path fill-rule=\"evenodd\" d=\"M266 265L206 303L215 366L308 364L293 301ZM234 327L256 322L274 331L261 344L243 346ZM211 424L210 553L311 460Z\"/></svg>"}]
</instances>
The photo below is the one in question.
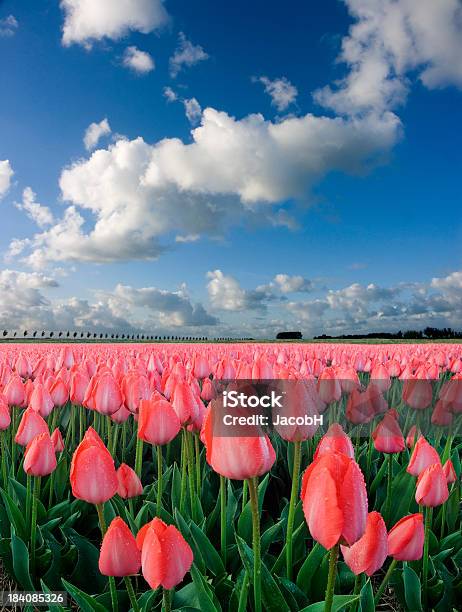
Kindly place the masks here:
<instances>
[{"instance_id":1,"label":"big wispy white cloud cut off by the top right corner","mask_svg":"<svg viewBox=\"0 0 462 612\"><path fill-rule=\"evenodd\" d=\"M344 0L355 20L339 57L347 76L315 94L340 113L382 111L401 104L417 72L430 89L462 87L459 0Z\"/></svg>"}]
</instances>

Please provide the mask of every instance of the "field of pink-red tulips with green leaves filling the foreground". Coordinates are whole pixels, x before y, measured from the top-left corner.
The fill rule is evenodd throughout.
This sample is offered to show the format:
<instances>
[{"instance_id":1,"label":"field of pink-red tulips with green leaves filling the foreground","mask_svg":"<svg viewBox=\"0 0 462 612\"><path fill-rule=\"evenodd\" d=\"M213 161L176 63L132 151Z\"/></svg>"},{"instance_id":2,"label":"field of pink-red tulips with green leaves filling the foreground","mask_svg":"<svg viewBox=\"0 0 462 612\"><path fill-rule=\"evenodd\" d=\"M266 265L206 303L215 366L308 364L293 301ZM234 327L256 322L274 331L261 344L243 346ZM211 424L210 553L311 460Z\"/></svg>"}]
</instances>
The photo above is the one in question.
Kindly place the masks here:
<instances>
[{"instance_id":1,"label":"field of pink-red tulips with green leaves filling the foreground","mask_svg":"<svg viewBox=\"0 0 462 612\"><path fill-rule=\"evenodd\" d=\"M1 345L3 609L461 610L461 421L459 344Z\"/></svg>"}]
</instances>

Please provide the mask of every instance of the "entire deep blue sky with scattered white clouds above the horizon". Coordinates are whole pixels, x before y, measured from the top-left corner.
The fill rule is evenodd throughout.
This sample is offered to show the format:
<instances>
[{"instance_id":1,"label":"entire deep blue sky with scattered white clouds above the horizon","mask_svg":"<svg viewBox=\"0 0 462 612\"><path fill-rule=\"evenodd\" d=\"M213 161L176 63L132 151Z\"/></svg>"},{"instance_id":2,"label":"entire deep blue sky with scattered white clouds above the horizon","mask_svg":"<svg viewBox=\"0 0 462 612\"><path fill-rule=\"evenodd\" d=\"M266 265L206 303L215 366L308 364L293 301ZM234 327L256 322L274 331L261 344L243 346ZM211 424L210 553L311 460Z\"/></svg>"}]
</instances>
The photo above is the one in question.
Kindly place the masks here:
<instances>
[{"instance_id":1,"label":"entire deep blue sky with scattered white clouds above the horizon","mask_svg":"<svg viewBox=\"0 0 462 612\"><path fill-rule=\"evenodd\" d=\"M0 326L462 325L461 2L99 7L0 3Z\"/></svg>"}]
</instances>

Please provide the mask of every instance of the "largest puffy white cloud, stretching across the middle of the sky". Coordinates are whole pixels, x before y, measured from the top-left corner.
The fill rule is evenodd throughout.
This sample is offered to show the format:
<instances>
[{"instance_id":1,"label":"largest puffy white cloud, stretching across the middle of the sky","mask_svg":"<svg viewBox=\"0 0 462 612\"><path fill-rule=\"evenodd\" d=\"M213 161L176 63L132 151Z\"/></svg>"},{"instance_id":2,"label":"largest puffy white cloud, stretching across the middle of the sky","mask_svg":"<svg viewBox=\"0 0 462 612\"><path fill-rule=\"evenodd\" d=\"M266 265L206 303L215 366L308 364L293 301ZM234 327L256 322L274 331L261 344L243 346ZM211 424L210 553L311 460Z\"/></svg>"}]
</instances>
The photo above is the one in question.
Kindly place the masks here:
<instances>
[{"instance_id":1,"label":"largest puffy white cloud, stretching across the middle of the sky","mask_svg":"<svg viewBox=\"0 0 462 612\"><path fill-rule=\"evenodd\" d=\"M206 108L191 134L191 143L119 139L66 168L70 206L25 245L29 261L152 259L172 232L219 235L262 206L306 196L330 171L363 170L396 142L400 122L386 113L273 123Z\"/></svg>"}]
</instances>

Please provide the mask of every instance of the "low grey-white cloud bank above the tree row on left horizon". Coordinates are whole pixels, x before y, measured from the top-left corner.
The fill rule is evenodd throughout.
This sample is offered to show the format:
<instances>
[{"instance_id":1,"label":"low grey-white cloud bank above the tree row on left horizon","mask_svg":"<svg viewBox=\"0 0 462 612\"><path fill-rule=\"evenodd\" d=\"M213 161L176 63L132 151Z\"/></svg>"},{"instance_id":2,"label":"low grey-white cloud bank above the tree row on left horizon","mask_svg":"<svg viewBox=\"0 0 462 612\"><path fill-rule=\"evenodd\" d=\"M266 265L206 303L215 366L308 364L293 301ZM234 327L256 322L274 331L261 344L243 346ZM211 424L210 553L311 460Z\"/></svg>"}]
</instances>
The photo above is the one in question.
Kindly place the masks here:
<instances>
[{"instance_id":1,"label":"low grey-white cloud bank above the tree row on left horizon","mask_svg":"<svg viewBox=\"0 0 462 612\"><path fill-rule=\"evenodd\" d=\"M48 294L58 287L50 276L16 270L0 271L0 326L5 329L85 330L163 333L181 328L203 333L218 324L201 303L193 304L182 287L117 285L98 292L94 300L58 299Z\"/></svg>"}]
</instances>

